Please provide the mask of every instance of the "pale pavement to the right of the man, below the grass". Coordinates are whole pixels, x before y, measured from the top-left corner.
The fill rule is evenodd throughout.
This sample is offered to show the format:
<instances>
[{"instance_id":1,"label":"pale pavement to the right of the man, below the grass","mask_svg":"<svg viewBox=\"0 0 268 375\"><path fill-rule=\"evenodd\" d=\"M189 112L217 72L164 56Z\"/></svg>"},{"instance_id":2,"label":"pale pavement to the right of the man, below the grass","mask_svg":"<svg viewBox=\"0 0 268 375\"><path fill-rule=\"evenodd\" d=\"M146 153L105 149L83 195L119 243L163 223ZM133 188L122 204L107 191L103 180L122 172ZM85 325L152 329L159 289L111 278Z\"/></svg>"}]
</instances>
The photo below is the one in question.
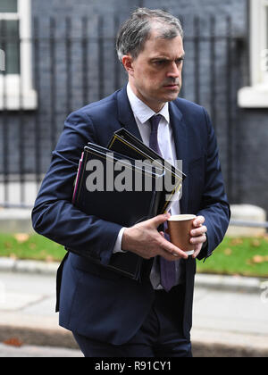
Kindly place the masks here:
<instances>
[{"instance_id":1,"label":"pale pavement to the right of the man, below the grass","mask_svg":"<svg viewBox=\"0 0 268 375\"><path fill-rule=\"evenodd\" d=\"M268 299L264 290L248 293L197 287L192 338L268 349Z\"/></svg>"}]
</instances>

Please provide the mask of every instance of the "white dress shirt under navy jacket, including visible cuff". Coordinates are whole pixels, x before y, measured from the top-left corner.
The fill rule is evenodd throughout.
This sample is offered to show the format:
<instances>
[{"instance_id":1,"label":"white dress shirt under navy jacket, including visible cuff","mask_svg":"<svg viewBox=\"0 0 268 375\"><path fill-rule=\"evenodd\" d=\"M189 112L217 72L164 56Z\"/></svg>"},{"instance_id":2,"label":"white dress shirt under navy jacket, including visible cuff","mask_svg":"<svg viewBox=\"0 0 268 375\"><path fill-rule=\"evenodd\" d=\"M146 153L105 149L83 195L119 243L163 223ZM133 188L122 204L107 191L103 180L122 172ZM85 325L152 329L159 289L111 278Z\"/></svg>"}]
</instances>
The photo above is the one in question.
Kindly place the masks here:
<instances>
[{"instance_id":1,"label":"white dress shirt under navy jacket, including visible cuff","mask_svg":"<svg viewBox=\"0 0 268 375\"><path fill-rule=\"evenodd\" d=\"M138 126L139 133L141 135L142 141L145 145L149 146L149 139L151 133L151 124L149 119L155 114L162 114L161 121L158 126L157 138L158 145L163 155L163 159L172 163L176 166L176 148L174 144L174 137L172 134L172 126L170 123L170 114L169 114L169 105L168 103L164 104L162 110L158 113L155 113L147 104L143 103L138 97L133 93L130 83L127 86L127 94L130 100L130 106L134 114L135 121ZM180 201L175 201L172 204L171 208L172 215L180 214ZM117 253L121 250L121 237L125 228L122 228L117 237L115 246L113 248L113 253ZM180 282L180 260L176 261L176 273L178 284ZM160 273L156 262L154 262L152 271L151 271L151 282L155 289L162 289L160 285Z\"/></svg>"}]
</instances>

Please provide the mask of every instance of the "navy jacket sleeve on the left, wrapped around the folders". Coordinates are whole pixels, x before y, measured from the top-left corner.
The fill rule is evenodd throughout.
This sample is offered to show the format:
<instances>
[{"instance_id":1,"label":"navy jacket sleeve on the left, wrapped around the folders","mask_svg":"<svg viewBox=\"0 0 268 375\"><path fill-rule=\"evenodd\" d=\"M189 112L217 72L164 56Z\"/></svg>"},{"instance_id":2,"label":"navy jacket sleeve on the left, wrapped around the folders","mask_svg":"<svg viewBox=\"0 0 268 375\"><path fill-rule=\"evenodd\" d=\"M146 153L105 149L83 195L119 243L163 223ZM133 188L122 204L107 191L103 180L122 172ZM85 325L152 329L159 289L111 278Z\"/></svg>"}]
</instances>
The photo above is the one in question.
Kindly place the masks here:
<instances>
[{"instance_id":1,"label":"navy jacket sleeve on the left, wrapped around the folders","mask_svg":"<svg viewBox=\"0 0 268 375\"><path fill-rule=\"evenodd\" d=\"M121 226L81 212L71 204L80 156L97 143L94 124L84 112L67 118L32 211L33 228L82 256L108 264Z\"/></svg>"}]
</instances>

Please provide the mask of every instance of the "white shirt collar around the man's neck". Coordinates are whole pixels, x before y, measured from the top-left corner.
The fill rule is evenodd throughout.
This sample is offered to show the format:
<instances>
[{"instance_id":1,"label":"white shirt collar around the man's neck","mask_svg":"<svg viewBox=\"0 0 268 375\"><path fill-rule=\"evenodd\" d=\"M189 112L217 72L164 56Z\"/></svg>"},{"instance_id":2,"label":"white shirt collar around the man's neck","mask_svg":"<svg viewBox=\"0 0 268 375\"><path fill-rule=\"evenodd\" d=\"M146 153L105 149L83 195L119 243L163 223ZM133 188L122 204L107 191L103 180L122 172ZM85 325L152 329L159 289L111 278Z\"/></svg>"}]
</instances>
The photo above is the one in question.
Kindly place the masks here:
<instances>
[{"instance_id":1,"label":"white shirt collar around the man's neck","mask_svg":"<svg viewBox=\"0 0 268 375\"><path fill-rule=\"evenodd\" d=\"M130 100L130 106L134 113L134 116L138 117L138 120L142 124L147 122L152 116L156 114L151 108L147 106L147 104L143 103L140 99L138 99L138 96L136 96L133 93L132 88L130 87L130 83L128 83L127 86L127 94ZM165 122L168 124L170 122L168 103L164 104L162 110L157 114L162 114L163 118L165 119Z\"/></svg>"}]
</instances>

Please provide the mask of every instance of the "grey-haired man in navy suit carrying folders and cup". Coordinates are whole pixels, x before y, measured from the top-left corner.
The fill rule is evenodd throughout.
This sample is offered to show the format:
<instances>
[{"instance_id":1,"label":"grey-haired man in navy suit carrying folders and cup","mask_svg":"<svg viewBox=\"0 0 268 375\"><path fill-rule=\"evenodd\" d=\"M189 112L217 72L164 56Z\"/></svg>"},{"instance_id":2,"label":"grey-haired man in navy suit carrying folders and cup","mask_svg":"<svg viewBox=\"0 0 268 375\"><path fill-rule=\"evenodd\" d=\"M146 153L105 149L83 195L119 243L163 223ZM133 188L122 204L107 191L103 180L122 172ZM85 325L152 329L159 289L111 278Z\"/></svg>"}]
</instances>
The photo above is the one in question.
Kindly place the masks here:
<instances>
[{"instance_id":1,"label":"grey-haired man in navy suit carrying folders and cup","mask_svg":"<svg viewBox=\"0 0 268 375\"><path fill-rule=\"evenodd\" d=\"M185 54L178 19L139 8L121 26L117 51L129 83L67 118L32 212L33 226L75 250L58 271L57 305L60 325L73 332L85 356L191 356L196 258L213 253L230 220L214 129L203 107L178 98ZM164 159L182 160L187 178L171 213L197 215L192 256L157 230L170 213L124 228L71 204L83 147L107 146L121 127ZM113 253L126 251L145 260L138 281L103 267ZM172 266L170 287L163 280L164 262Z\"/></svg>"}]
</instances>

